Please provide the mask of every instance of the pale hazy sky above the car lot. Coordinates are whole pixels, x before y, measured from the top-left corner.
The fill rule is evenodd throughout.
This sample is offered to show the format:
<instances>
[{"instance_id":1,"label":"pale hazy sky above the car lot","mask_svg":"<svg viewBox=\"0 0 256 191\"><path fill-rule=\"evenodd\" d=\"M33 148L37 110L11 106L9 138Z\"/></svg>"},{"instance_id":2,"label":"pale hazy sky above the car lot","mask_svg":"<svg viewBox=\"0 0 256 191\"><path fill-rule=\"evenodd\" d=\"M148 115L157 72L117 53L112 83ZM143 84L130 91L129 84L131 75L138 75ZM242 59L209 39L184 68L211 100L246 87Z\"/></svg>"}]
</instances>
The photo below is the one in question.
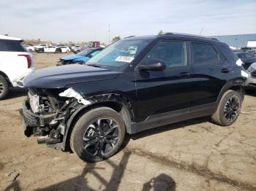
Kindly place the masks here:
<instances>
[{"instance_id":1,"label":"pale hazy sky above the car lot","mask_svg":"<svg viewBox=\"0 0 256 191\"><path fill-rule=\"evenodd\" d=\"M0 1L0 34L53 42L157 34L256 33L256 0Z\"/></svg>"}]
</instances>

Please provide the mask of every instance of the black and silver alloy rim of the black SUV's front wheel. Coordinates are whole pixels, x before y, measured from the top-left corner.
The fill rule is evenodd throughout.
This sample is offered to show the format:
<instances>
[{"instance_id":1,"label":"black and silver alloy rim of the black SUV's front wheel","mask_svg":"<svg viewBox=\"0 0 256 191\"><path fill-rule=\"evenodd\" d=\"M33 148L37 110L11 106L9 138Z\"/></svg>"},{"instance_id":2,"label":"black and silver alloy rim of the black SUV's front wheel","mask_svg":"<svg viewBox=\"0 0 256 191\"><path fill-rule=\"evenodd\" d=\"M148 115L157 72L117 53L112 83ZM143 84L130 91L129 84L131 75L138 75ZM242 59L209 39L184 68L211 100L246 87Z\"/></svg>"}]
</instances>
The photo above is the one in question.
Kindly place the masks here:
<instances>
[{"instance_id":1,"label":"black and silver alloy rim of the black SUV's front wheel","mask_svg":"<svg viewBox=\"0 0 256 191\"><path fill-rule=\"evenodd\" d=\"M109 118L99 118L84 133L83 145L90 155L102 157L115 148L118 139L117 122Z\"/></svg>"}]
</instances>

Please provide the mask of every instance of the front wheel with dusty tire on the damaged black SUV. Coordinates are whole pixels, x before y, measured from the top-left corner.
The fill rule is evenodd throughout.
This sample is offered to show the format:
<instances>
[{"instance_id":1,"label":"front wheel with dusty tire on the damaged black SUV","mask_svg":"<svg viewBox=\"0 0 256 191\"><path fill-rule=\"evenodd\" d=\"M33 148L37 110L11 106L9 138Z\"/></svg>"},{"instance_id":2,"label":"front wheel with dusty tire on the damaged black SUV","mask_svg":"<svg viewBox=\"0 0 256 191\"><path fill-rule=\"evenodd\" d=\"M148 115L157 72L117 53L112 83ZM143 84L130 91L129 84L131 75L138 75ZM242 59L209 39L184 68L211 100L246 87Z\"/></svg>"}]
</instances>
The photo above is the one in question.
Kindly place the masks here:
<instances>
[{"instance_id":1,"label":"front wheel with dusty tire on the damaged black SUV","mask_svg":"<svg viewBox=\"0 0 256 191\"><path fill-rule=\"evenodd\" d=\"M108 124L107 120L112 120L112 122L109 122ZM101 122L102 125L97 125ZM102 128L101 131L99 131L99 127ZM111 140L111 135L108 134L110 133L108 131L113 132ZM89 135L89 133L91 133L91 135ZM114 135L114 133L117 135ZM103 134L104 137L102 137ZM118 137L116 138L116 136ZM75 152L78 157L80 157L80 159L93 163L99 162L113 156L118 151L124 141L124 136L125 124L121 115L108 107L98 107L83 114L78 122L75 123L70 136L70 147L72 151ZM94 141L94 144L91 144L92 141Z\"/></svg>"}]
</instances>

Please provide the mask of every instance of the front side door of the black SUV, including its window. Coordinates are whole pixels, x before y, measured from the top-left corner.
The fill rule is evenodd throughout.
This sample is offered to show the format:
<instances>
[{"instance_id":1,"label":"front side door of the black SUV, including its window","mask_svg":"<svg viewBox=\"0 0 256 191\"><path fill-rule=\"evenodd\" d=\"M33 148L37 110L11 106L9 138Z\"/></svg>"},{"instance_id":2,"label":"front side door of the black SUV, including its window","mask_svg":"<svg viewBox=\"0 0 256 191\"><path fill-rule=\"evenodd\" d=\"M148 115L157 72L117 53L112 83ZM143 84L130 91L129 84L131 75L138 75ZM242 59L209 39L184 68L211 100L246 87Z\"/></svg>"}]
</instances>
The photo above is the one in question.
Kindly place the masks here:
<instances>
[{"instance_id":1,"label":"front side door of the black SUV, including its window","mask_svg":"<svg viewBox=\"0 0 256 191\"><path fill-rule=\"evenodd\" d=\"M177 110L187 114L192 99L188 50L188 44L184 41L160 41L140 62L160 59L165 61L166 69L136 71L139 122L150 116Z\"/></svg>"}]
</instances>

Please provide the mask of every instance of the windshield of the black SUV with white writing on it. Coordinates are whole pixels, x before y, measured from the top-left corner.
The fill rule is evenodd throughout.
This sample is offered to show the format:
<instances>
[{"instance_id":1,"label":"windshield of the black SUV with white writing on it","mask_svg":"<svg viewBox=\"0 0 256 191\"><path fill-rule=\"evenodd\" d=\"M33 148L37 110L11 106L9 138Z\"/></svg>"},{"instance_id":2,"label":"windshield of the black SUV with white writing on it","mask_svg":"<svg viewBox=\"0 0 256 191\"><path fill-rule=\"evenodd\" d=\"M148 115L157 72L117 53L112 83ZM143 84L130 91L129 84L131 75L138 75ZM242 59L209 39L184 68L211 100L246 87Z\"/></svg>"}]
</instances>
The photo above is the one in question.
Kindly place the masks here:
<instances>
[{"instance_id":1,"label":"windshield of the black SUV with white writing on it","mask_svg":"<svg viewBox=\"0 0 256 191\"><path fill-rule=\"evenodd\" d=\"M118 41L91 58L88 64L113 71L122 71L149 42L149 40Z\"/></svg>"}]
</instances>

